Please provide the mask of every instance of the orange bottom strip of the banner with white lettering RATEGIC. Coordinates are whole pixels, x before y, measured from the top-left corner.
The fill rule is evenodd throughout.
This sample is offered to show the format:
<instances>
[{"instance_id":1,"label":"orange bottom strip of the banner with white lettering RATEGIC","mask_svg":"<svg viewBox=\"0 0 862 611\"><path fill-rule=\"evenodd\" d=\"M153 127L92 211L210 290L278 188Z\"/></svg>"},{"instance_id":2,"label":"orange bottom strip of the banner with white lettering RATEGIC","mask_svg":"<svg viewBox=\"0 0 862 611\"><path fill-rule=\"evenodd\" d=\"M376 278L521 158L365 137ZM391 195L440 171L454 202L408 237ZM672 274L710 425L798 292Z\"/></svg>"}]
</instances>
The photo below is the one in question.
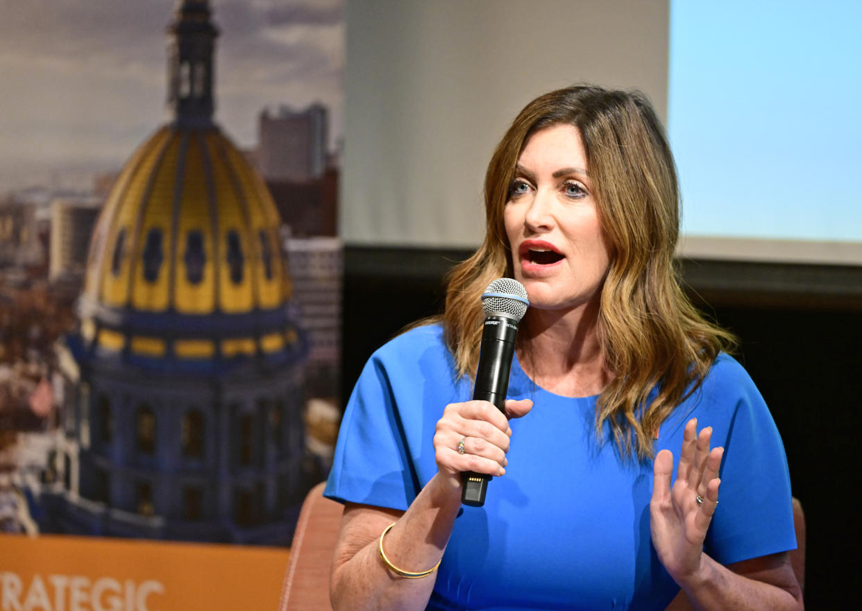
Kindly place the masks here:
<instances>
[{"instance_id":1,"label":"orange bottom strip of the banner with white lettering RATEGIC","mask_svg":"<svg viewBox=\"0 0 862 611\"><path fill-rule=\"evenodd\" d=\"M289 555L260 546L2 534L0 609L275 609Z\"/></svg>"}]
</instances>

